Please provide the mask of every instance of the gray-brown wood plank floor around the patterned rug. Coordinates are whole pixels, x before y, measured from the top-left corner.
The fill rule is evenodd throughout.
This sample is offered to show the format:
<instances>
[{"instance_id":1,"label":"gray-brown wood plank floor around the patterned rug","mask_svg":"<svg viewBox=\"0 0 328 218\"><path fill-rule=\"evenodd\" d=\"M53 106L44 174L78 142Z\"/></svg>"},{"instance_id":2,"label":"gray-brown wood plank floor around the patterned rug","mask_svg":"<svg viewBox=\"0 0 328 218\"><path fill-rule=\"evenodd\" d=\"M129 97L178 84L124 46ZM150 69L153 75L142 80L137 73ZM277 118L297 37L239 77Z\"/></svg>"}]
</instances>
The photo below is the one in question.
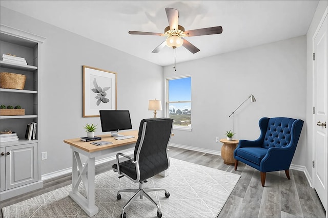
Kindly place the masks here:
<instances>
[{"instance_id":1,"label":"gray-brown wood plank floor around the patterned rug","mask_svg":"<svg viewBox=\"0 0 328 218\"><path fill-rule=\"evenodd\" d=\"M290 170L268 172L265 187L260 172L241 162L237 171L223 163L221 156L170 147L170 157L241 175L235 189L218 217L325 217L325 210L303 172ZM96 166L96 175L111 169L112 164ZM71 175L45 181L44 188L0 202L0 207L35 197L71 183ZM2 218L2 213L0 214Z\"/></svg>"}]
</instances>

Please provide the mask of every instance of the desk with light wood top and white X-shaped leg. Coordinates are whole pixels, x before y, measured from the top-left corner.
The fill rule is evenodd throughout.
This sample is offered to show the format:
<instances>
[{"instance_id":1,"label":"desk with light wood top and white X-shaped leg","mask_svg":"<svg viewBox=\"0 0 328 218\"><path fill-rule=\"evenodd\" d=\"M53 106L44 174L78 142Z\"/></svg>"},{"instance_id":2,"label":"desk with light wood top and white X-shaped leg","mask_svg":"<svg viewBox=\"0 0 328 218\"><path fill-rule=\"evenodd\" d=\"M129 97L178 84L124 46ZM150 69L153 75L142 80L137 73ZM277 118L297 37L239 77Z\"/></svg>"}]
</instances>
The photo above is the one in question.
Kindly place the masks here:
<instances>
[{"instance_id":1,"label":"desk with light wood top and white X-shaped leg","mask_svg":"<svg viewBox=\"0 0 328 218\"><path fill-rule=\"evenodd\" d=\"M96 146L91 142L81 141L80 138L64 140L72 149L72 191L70 197L91 217L98 213L95 205L94 179L95 179L95 158L111 153L111 148L135 144L138 139L138 130L120 132L121 135L132 135L134 138L116 140L111 135L101 135L99 141L110 141L113 144ZM88 159L82 164L80 154ZM78 192L78 186L83 181L86 189L86 198Z\"/></svg>"}]
</instances>

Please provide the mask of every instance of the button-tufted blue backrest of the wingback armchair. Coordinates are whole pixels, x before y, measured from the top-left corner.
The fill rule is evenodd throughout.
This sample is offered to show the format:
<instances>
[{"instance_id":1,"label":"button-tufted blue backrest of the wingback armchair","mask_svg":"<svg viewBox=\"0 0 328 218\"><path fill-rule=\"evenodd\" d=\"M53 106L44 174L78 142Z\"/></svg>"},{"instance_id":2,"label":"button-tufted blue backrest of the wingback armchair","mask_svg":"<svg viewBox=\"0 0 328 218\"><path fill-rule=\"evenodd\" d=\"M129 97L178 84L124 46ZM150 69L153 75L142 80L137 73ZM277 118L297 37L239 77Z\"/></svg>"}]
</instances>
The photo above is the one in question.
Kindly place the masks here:
<instances>
[{"instance_id":1,"label":"button-tufted blue backrest of the wingback armchair","mask_svg":"<svg viewBox=\"0 0 328 218\"><path fill-rule=\"evenodd\" d=\"M300 128L302 128L302 124L303 124L302 120L296 120L293 118L286 118L286 117L276 117L276 118L265 117L260 120L259 125L263 126L265 125L264 123L267 123L267 132L265 133L264 136L263 145L262 145L263 148L285 147L287 145L291 145L291 146L295 145L296 148L298 138L300 136L300 131L295 132L296 130L295 128L299 128L299 124L301 124ZM294 132L293 139L292 139L292 132Z\"/></svg>"}]
</instances>

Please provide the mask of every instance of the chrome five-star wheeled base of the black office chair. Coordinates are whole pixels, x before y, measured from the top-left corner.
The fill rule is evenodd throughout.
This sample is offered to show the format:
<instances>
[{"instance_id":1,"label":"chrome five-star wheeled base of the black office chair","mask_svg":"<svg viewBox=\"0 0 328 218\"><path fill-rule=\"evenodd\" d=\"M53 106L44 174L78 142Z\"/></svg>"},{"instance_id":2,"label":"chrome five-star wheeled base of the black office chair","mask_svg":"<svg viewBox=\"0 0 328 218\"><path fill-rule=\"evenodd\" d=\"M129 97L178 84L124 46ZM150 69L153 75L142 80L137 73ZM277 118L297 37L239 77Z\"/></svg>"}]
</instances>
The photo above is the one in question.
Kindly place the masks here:
<instances>
[{"instance_id":1,"label":"chrome five-star wheeled base of the black office chair","mask_svg":"<svg viewBox=\"0 0 328 218\"><path fill-rule=\"evenodd\" d=\"M124 205L123 209L122 209L122 213L121 213L121 218L126 218L126 212L124 212L124 210L138 197L140 197L140 199L143 199L143 197L145 196L149 201L151 201L154 205L156 205L157 207L157 217L161 217L162 213L161 213L161 209L160 209L160 205L157 204L155 202L155 200L153 200L147 192L150 191L165 191L165 197L169 198L170 197L170 193L167 192L167 190L163 189L163 188L144 188L144 182L140 182L139 183L139 188L133 188L133 189L122 189L122 190L118 190L117 194L116 194L116 199L120 200L121 199L121 195L120 192L133 192L135 193L133 195L133 197Z\"/></svg>"}]
</instances>

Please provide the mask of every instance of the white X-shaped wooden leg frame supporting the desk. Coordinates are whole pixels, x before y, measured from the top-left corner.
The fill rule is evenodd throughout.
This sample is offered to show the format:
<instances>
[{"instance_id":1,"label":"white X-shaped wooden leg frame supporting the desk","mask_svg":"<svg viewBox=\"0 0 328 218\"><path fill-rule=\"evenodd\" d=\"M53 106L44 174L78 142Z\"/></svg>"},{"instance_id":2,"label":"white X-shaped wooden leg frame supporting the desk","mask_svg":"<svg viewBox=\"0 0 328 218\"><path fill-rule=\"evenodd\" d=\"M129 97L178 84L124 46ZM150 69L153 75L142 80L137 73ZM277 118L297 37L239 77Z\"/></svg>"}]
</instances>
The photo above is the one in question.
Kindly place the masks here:
<instances>
[{"instance_id":1,"label":"white X-shaped wooden leg frame supporting the desk","mask_svg":"<svg viewBox=\"0 0 328 218\"><path fill-rule=\"evenodd\" d=\"M72 149L72 191L70 197L91 217L98 213L94 193L95 158L88 157L83 166L79 152ZM78 186L83 182L86 197L78 192Z\"/></svg>"}]
</instances>

